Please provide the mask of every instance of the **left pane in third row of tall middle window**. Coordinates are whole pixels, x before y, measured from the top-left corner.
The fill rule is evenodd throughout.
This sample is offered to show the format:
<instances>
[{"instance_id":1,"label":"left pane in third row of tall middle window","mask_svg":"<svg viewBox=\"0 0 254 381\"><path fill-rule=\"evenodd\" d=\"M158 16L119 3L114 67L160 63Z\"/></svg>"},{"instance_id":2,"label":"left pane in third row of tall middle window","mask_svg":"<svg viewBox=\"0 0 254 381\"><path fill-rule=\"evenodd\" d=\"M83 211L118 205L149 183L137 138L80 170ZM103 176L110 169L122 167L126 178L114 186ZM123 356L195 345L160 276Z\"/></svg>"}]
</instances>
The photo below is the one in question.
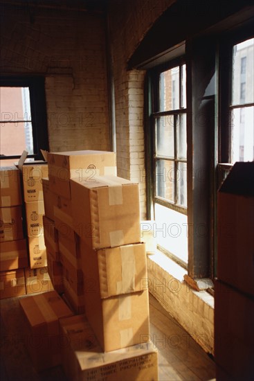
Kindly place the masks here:
<instances>
[{"instance_id":1,"label":"left pane in third row of tall middle window","mask_svg":"<svg viewBox=\"0 0 254 381\"><path fill-rule=\"evenodd\" d=\"M156 196L174 202L174 161L156 160Z\"/></svg>"}]
</instances>

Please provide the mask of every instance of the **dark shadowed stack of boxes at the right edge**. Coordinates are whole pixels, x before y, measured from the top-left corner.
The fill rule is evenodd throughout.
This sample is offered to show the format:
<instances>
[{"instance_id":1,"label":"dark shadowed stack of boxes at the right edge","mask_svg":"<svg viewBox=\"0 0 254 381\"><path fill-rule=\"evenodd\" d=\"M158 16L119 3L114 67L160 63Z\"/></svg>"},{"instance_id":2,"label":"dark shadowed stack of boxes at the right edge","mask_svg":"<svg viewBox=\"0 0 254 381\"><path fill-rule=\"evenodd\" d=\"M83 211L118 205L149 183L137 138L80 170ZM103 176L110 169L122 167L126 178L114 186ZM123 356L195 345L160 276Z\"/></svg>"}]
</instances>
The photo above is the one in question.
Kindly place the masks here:
<instances>
[{"instance_id":1,"label":"dark shadowed stack of boxes at the right edge","mask_svg":"<svg viewBox=\"0 0 254 381\"><path fill-rule=\"evenodd\" d=\"M254 375L254 162L237 162L218 193L217 380Z\"/></svg>"}]
</instances>

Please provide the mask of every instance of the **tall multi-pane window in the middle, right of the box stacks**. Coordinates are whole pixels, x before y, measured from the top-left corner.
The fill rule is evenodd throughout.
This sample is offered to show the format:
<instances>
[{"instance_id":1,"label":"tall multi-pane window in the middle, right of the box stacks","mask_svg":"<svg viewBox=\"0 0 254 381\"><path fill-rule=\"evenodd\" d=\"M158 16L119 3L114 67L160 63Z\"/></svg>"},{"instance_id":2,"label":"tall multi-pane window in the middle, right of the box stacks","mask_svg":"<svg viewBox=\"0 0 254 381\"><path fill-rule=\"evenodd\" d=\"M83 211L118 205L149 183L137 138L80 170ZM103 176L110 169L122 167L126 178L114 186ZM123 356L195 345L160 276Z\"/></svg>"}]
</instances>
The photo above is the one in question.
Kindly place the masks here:
<instances>
[{"instance_id":1,"label":"tall multi-pane window in the middle, right of the box stacks","mask_svg":"<svg viewBox=\"0 0 254 381\"><path fill-rule=\"evenodd\" d=\"M152 204L158 248L187 268L186 68L157 69L152 78Z\"/></svg>"}]
</instances>

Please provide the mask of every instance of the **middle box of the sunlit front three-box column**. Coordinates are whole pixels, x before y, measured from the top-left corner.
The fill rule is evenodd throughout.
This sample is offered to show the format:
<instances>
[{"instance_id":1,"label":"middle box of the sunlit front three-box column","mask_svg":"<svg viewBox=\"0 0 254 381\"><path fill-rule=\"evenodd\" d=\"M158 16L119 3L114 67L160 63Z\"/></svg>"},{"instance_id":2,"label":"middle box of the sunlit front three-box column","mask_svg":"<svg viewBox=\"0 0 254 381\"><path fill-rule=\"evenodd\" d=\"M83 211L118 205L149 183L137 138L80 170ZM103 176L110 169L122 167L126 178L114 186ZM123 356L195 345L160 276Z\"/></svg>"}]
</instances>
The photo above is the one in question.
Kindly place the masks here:
<instances>
[{"instance_id":1,"label":"middle box of the sunlit front three-box column","mask_svg":"<svg viewBox=\"0 0 254 381\"><path fill-rule=\"evenodd\" d=\"M147 279L145 244L93 250L80 240L82 271L101 298L142 290Z\"/></svg>"}]
</instances>

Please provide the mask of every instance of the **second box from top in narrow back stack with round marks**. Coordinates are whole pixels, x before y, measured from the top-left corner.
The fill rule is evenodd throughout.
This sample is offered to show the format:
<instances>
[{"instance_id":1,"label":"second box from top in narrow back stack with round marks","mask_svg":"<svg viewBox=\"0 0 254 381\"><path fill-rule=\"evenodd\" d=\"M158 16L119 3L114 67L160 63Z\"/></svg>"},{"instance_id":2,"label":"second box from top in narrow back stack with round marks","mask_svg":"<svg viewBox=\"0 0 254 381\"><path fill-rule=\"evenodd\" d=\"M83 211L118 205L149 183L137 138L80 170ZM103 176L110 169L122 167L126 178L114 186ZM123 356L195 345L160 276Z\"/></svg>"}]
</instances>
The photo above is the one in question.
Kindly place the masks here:
<instances>
[{"instance_id":1,"label":"second box from top in narrow back stack with round marks","mask_svg":"<svg viewBox=\"0 0 254 381\"><path fill-rule=\"evenodd\" d=\"M42 236L43 231L44 202L26 202L26 225L28 237Z\"/></svg>"}]
</instances>

